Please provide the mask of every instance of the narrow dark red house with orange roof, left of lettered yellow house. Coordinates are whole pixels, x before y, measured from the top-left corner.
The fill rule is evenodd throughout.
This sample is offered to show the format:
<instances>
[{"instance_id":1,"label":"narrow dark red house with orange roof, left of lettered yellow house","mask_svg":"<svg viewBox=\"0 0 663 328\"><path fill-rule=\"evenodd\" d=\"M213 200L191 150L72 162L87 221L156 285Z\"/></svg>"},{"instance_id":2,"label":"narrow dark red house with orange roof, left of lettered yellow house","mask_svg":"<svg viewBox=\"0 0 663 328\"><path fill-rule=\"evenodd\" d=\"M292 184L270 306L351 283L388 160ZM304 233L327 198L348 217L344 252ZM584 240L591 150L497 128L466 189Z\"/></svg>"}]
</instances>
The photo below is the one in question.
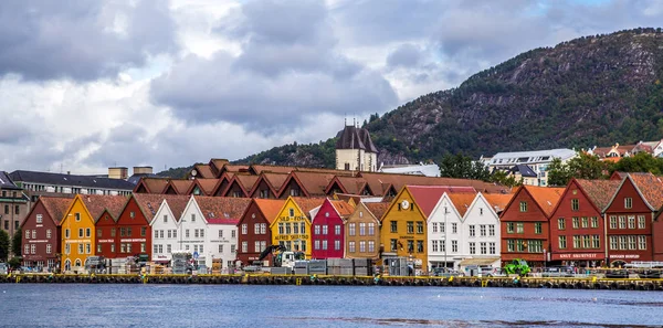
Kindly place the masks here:
<instances>
[{"instance_id":1,"label":"narrow dark red house with orange roof, left of lettered yellow house","mask_svg":"<svg viewBox=\"0 0 663 328\"><path fill-rule=\"evenodd\" d=\"M238 260L242 262L242 265L251 265L253 261L257 261L262 251L272 244L272 230L270 225L276 216L285 200L272 200L272 199L252 199L251 203L242 214L240 222L238 223L238 245L242 245L246 242L249 247L248 252L242 252L242 247L238 247ZM246 233L243 233L242 226L246 225ZM272 265L272 256L265 257L264 265Z\"/></svg>"}]
</instances>

